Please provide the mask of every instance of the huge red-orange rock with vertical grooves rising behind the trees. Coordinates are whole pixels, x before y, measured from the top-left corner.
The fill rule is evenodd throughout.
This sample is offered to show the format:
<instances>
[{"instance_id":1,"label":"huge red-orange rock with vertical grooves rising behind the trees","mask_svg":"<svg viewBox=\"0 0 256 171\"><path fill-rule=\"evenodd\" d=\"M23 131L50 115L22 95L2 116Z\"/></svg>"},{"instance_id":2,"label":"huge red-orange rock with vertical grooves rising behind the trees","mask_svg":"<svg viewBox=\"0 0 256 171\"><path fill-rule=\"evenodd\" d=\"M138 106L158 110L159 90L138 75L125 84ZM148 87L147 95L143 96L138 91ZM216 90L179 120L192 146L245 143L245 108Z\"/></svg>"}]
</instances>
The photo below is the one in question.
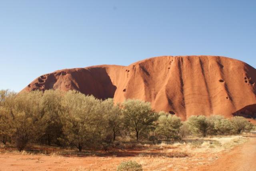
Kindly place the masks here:
<instances>
[{"instance_id":1,"label":"huge red-orange rock with vertical grooves rising behind the trees","mask_svg":"<svg viewBox=\"0 0 256 171\"><path fill-rule=\"evenodd\" d=\"M162 56L127 67L64 69L38 77L22 91L51 88L115 102L142 99L183 120L199 114L256 118L256 69L226 57Z\"/></svg>"}]
</instances>

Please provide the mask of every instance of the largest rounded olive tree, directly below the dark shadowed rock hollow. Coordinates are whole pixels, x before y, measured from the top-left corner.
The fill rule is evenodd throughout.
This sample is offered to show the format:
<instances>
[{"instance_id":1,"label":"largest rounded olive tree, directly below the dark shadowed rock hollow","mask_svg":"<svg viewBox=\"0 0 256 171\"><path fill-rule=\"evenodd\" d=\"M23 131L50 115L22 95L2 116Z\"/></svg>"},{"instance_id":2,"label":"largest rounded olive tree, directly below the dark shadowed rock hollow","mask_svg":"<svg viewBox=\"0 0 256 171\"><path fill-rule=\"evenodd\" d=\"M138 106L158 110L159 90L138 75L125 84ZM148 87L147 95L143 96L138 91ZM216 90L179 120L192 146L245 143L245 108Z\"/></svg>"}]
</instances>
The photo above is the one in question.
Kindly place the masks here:
<instances>
[{"instance_id":1,"label":"largest rounded olive tree, directly below the dark shadowed rock hollow","mask_svg":"<svg viewBox=\"0 0 256 171\"><path fill-rule=\"evenodd\" d=\"M106 122L102 117L100 100L70 90L62 100L63 133L70 145L78 151L87 146L96 145L101 139L102 128Z\"/></svg>"}]
</instances>

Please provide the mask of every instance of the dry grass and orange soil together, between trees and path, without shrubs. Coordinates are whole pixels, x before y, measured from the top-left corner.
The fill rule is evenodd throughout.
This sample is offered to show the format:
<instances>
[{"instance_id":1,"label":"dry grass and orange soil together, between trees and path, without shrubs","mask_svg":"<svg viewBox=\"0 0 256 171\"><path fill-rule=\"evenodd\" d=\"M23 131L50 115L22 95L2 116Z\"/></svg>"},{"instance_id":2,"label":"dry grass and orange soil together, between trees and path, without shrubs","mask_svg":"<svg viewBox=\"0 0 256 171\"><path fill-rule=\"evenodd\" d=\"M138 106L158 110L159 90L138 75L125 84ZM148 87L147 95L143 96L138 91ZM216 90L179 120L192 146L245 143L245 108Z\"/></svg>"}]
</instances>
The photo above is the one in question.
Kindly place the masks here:
<instances>
[{"instance_id":1,"label":"dry grass and orange soil together, between trees and path, without shrubs","mask_svg":"<svg viewBox=\"0 0 256 171\"><path fill-rule=\"evenodd\" d=\"M20 152L11 145L1 145L0 158L2 170L113 171L122 161L130 160L144 171L192 170L247 140L243 136L213 136L160 144L118 142L108 151L82 152L47 145L30 145Z\"/></svg>"}]
</instances>

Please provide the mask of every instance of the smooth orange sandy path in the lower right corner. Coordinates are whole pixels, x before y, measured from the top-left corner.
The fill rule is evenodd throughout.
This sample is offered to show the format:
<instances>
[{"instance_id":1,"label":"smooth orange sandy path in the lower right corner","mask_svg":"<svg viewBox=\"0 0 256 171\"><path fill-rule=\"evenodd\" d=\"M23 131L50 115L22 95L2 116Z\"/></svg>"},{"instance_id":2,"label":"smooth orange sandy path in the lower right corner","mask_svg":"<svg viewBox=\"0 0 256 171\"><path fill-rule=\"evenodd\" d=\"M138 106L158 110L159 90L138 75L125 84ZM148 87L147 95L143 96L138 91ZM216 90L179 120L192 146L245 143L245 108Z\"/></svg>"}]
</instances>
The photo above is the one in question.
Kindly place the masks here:
<instances>
[{"instance_id":1,"label":"smooth orange sandy path in the lower right corner","mask_svg":"<svg viewBox=\"0 0 256 171\"><path fill-rule=\"evenodd\" d=\"M220 155L214 163L194 171L256 171L256 137Z\"/></svg>"}]
</instances>

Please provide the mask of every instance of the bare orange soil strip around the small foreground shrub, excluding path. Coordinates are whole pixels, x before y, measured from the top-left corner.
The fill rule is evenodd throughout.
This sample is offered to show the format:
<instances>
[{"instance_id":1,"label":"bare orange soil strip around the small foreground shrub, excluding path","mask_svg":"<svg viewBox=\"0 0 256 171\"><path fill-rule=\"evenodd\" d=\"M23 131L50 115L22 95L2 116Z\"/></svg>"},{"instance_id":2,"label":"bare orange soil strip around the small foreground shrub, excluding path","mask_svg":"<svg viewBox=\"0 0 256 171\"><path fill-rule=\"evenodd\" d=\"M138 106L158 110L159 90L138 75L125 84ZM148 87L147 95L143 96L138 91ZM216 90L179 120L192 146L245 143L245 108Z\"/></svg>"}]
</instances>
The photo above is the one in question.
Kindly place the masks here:
<instances>
[{"instance_id":1,"label":"bare orange soil strip around the small foreground shrub, excluding path","mask_svg":"<svg viewBox=\"0 0 256 171\"><path fill-rule=\"evenodd\" d=\"M0 171L115 171L122 161L135 160L142 164L144 171L182 170L191 169L201 163L207 163L204 156L168 158L168 157L140 157L136 156L108 156L108 157L64 157L47 155L0 154ZM207 156L208 159L216 158ZM198 162L198 163L197 163Z\"/></svg>"}]
</instances>

